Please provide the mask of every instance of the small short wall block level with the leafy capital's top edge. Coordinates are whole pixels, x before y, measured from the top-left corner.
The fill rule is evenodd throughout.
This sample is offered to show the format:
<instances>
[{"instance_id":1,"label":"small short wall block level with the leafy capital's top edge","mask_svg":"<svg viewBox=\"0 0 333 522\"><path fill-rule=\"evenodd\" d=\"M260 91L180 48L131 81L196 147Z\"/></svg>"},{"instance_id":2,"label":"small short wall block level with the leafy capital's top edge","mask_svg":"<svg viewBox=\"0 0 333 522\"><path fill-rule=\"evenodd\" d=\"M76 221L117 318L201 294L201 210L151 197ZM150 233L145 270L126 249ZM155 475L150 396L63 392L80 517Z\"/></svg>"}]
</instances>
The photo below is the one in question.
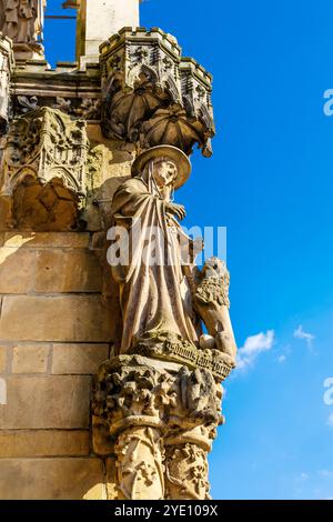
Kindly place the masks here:
<instances>
[{"instance_id":1,"label":"small short wall block level with the leafy capital's top edge","mask_svg":"<svg viewBox=\"0 0 333 522\"><path fill-rule=\"evenodd\" d=\"M93 374L109 357L109 344L53 344L52 373Z\"/></svg>"}]
</instances>

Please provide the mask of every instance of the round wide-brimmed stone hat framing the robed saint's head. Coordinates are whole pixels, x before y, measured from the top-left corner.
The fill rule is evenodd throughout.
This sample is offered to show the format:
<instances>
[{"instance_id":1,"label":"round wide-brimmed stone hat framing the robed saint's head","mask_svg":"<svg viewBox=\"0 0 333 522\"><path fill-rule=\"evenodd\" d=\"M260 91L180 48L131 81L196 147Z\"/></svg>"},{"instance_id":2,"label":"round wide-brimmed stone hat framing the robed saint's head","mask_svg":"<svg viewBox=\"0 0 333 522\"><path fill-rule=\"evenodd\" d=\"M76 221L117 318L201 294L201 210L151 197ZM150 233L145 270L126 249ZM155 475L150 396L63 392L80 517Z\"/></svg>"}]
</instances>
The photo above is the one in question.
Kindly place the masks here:
<instances>
[{"instance_id":1,"label":"round wide-brimmed stone hat framing the robed saint's head","mask_svg":"<svg viewBox=\"0 0 333 522\"><path fill-rule=\"evenodd\" d=\"M192 165L186 154L172 145L158 145L141 152L132 164L132 177L140 175L150 160L158 158L169 158L174 161L178 168L178 175L174 182L174 189L182 187L190 178Z\"/></svg>"}]
</instances>

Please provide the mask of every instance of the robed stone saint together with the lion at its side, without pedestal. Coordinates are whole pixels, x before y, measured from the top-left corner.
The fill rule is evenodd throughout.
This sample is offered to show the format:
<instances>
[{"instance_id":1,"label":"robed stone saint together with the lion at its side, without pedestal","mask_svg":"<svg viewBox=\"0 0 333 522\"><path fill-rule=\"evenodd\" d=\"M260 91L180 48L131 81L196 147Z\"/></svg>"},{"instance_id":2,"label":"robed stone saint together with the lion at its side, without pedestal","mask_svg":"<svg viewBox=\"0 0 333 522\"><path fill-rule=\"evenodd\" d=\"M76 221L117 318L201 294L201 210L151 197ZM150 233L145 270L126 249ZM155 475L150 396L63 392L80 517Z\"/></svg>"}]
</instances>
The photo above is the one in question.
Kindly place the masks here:
<instances>
[{"instance_id":1,"label":"robed stone saint together with the lion at its side, without pedestal","mask_svg":"<svg viewBox=\"0 0 333 522\"><path fill-rule=\"evenodd\" d=\"M114 223L119 231L128 231L122 244L114 243L113 259L109 260L120 285L120 353L135 350L142 335L155 345L161 337L170 342L178 338L183 345L216 350L234 365L236 345L229 315L225 263L212 258L202 272L196 269L198 242L185 235L178 221L185 215L184 207L172 201L174 190L190 172L191 163L181 150L154 147L139 155L132 179L113 197ZM123 257L114 259L119 247L127 248L121 248ZM202 334L200 320L208 335Z\"/></svg>"}]
</instances>

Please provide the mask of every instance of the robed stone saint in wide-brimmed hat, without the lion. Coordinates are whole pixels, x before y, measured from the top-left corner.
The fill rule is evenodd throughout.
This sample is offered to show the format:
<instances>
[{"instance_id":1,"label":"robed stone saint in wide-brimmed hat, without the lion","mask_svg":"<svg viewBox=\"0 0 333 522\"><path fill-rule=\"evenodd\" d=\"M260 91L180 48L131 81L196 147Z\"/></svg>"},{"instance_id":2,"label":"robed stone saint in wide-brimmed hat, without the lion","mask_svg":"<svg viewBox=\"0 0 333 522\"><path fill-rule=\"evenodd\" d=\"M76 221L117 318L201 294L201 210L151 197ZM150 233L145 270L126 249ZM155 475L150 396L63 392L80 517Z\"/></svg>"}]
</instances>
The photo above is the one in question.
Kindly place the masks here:
<instances>
[{"instance_id":1,"label":"robed stone saint in wide-brimmed hat, without the lion","mask_svg":"<svg viewBox=\"0 0 333 522\"><path fill-rule=\"evenodd\" d=\"M185 217L184 207L172 202L174 190L190 173L191 163L181 150L154 147L137 158L132 179L113 197L113 219L129 231L132 245L128 261L112 267L120 285L121 353L147 332L178 334L198 343L188 255L191 239L178 221Z\"/></svg>"}]
</instances>

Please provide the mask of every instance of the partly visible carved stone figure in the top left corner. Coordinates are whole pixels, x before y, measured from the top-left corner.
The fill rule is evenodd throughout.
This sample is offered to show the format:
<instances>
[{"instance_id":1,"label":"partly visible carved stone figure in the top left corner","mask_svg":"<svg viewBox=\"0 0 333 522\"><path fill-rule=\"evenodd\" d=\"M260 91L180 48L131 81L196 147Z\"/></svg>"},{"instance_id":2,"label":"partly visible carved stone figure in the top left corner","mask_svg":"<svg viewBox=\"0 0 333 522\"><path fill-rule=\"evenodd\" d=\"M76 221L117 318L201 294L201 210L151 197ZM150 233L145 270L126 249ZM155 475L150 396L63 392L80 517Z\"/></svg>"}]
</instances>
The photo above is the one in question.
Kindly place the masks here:
<instances>
[{"instance_id":1,"label":"partly visible carved stone figure in the top left corner","mask_svg":"<svg viewBox=\"0 0 333 522\"><path fill-rule=\"evenodd\" d=\"M46 2L43 2L44 4ZM41 34L39 0L1 0L1 31L14 43L36 43Z\"/></svg>"}]
</instances>

